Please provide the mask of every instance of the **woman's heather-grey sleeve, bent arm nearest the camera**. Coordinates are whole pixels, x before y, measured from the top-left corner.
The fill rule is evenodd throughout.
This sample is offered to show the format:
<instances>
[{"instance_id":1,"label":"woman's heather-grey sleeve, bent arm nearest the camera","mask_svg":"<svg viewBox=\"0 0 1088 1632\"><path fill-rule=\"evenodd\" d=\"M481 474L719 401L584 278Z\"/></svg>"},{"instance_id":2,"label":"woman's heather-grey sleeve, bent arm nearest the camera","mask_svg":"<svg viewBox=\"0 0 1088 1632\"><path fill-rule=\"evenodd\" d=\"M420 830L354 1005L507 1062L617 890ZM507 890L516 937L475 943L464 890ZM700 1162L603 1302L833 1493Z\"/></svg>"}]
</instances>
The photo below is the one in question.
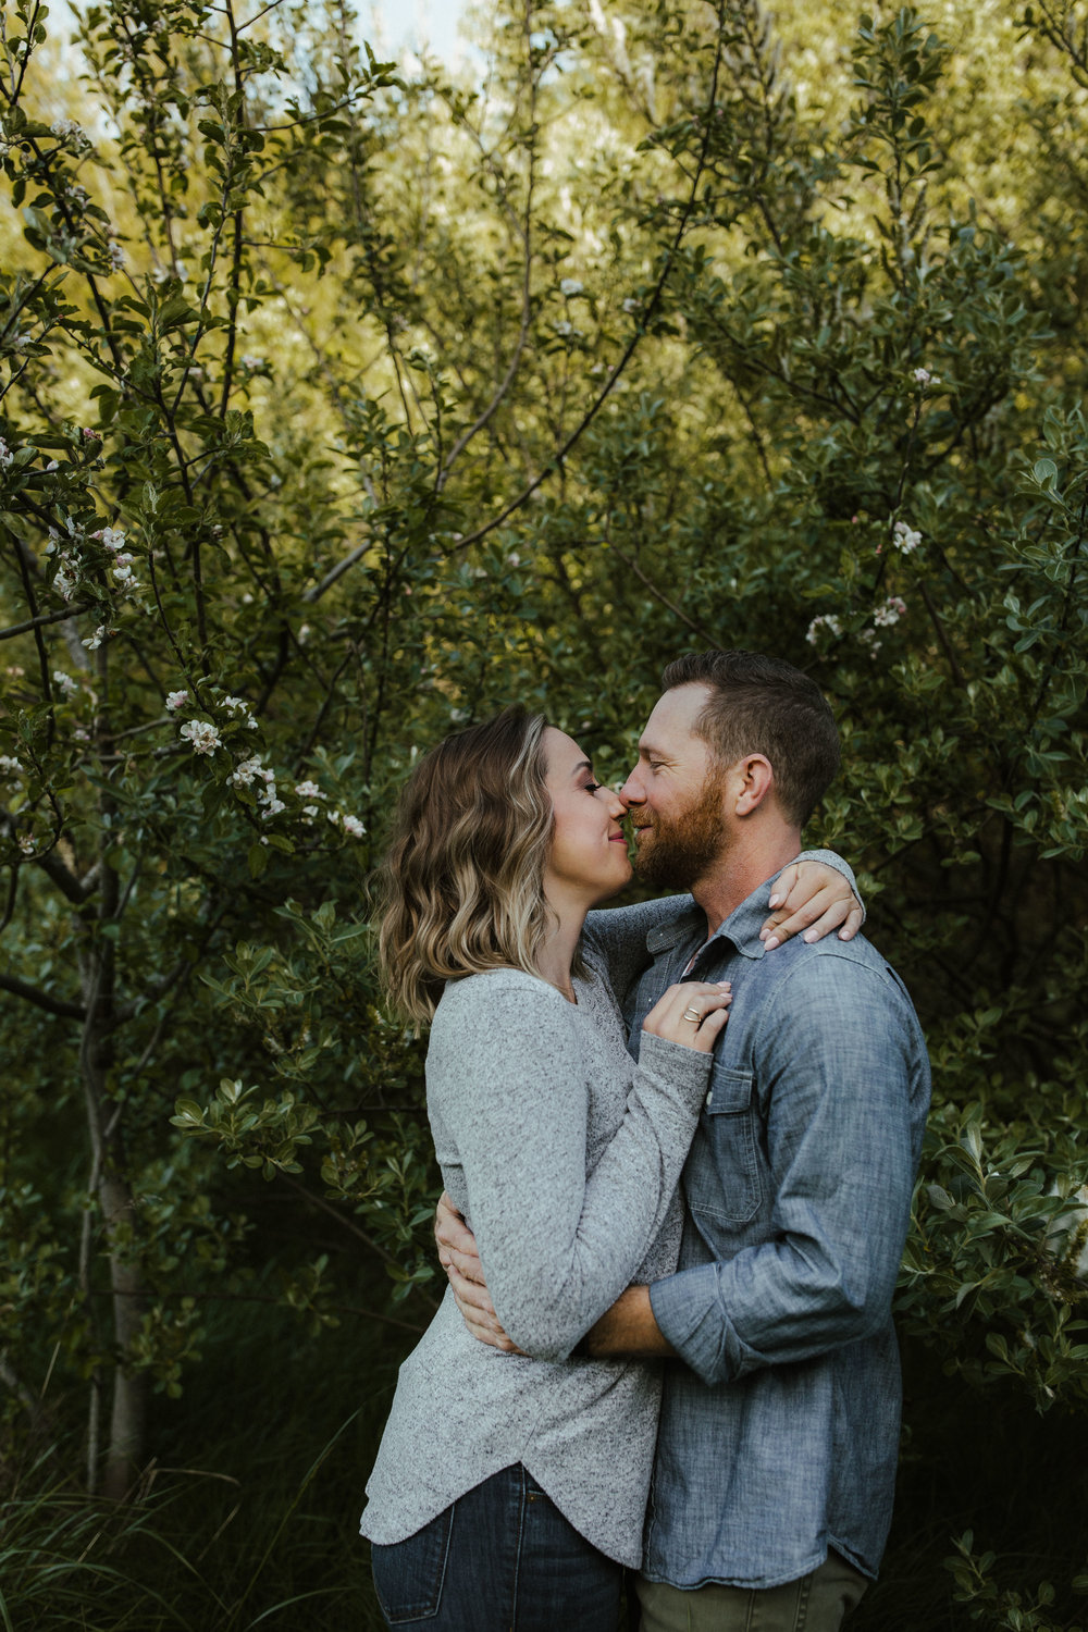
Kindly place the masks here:
<instances>
[{"instance_id":1,"label":"woman's heather-grey sleeve, bent arm nearest the camera","mask_svg":"<svg viewBox=\"0 0 1088 1632\"><path fill-rule=\"evenodd\" d=\"M623 1121L587 1177L574 1013L529 978L483 996L444 1061L444 1115L496 1314L527 1355L564 1359L661 1227L711 1056L643 1035Z\"/></svg>"}]
</instances>

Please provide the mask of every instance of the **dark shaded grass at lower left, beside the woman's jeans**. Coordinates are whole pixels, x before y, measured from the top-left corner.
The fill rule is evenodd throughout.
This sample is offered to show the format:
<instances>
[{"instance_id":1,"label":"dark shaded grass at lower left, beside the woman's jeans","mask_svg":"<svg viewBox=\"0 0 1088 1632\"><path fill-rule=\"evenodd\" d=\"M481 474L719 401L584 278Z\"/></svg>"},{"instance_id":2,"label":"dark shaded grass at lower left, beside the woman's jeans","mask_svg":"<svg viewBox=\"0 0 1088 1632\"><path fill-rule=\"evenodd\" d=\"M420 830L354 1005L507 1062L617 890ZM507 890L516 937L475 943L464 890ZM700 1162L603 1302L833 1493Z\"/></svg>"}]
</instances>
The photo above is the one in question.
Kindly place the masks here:
<instances>
[{"instance_id":1,"label":"dark shaded grass at lower left, beside the woman's jeans","mask_svg":"<svg viewBox=\"0 0 1088 1632\"><path fill-rule=\"evenodd\" d=\"M289 1310L220 1309L158 1456L124 1510L88 1501L60 1444L0 1503L5 1632L380 1632L364 1485L400 1353Z\"/></svg>"}]
</instances>

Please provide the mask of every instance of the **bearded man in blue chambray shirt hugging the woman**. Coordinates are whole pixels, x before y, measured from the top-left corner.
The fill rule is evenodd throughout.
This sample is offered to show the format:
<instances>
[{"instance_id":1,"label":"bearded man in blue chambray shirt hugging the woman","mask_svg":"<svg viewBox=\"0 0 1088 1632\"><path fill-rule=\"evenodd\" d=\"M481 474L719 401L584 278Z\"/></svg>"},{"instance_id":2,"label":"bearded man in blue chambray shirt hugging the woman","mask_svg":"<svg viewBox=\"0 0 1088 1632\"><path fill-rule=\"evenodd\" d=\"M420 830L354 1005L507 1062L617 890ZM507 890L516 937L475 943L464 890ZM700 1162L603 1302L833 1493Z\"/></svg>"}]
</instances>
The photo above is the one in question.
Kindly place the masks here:
<instances>
[{"instance_id":1,"label":"bearded man in blue chambray shirt hugging the woman","mask_svg":"<svg viewBox=\"0 0 1088 1632\"><path fill-rule=\"evenodd\" d=\"M643 1632L834 1632L887 1537L899 1439L891 1297L928 1106L925 1041L868 942L760 929L767 881L838 769L830 708L752 653L687 654L621 796L638 873L690 889L648 937L636 1036L674 981L732 982L683 1170L675 1275L635 1286L590 1355L667 1368L639 1599ZM473 1330L486 1293L444 1262ZM483 1306L483 1307L480 1307Z\"/></svg>"}]
</instances>

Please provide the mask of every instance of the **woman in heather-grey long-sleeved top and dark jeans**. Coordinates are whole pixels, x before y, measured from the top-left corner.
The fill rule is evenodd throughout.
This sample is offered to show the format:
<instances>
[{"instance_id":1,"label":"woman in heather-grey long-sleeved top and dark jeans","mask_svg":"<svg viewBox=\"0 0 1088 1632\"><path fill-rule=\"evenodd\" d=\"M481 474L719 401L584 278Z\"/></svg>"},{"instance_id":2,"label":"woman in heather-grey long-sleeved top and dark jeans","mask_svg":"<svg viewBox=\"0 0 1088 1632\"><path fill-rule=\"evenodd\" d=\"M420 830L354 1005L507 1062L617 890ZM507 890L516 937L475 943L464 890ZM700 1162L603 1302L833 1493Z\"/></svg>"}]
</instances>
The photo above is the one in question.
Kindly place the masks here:
<instances>
[{"instance_id":1,"label":"woman in heather-grey long-sleeved top and dark jeans","mask_svg":"<svg viewBox=\"0 0 1088 1632\"><path fill-rule=\"evenodd\" d=\"M630 878L623 805L511 708L416 769L387 860L390 1000L431 1020L427 1113L519 1350L447 1296L400 1373L362 1534L390 1625L608 1632L641 1557L661 1379L573 1355L675 1268L675 1186L729 992L670 987L638 1064L586 914Z\"/></svg>"}]
</instances>

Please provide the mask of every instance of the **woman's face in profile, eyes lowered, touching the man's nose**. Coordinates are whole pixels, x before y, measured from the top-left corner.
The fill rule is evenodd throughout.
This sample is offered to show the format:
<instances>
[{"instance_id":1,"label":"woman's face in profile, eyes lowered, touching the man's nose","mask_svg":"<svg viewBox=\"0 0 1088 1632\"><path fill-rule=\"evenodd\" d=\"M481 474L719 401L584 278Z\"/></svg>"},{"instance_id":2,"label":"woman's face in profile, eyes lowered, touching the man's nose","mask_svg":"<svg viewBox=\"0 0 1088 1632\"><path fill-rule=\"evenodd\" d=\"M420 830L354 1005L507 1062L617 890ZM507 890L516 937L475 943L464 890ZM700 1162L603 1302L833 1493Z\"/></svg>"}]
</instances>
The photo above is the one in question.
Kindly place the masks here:
<instances>
[{"instance_id":1,"label":"woman's face in profile, eyes lowered, touching the man's nose","mask_svg":"<svg viewBox=\"0 0 1088 1632\"><path fill-rule=\"evenodd\" d=\"M594 780L589 761L564 731L543 736L546 785L555 809L545 894L553 907L590 907L623 889L631 876L625 813L612 788Z\"/></svg>"}]
</instances>

